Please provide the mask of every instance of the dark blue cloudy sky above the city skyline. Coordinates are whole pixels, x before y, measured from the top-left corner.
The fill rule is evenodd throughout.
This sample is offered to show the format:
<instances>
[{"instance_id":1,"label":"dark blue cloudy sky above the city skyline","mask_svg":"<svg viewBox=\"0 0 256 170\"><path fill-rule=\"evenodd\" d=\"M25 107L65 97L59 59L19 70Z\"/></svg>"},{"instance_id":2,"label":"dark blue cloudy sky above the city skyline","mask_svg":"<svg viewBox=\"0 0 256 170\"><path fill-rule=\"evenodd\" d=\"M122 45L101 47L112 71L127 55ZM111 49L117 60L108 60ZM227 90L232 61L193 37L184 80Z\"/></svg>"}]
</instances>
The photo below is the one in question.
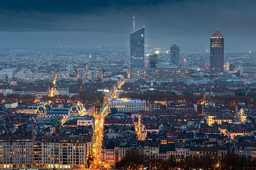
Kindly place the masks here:
<instances>
[{"instance_id":1,"label":"dark blue cloudy sky above the city skyline","mask_svg":"<svg viewBox=\"0 0 256 170\"><path fill-rule=\"evenodd\" d=\"M218 29L226 49L256 49L255 0L3 0L0 47L128 46L135 26L146 45L208 49Z\"/></svg>"}]
</instances>

